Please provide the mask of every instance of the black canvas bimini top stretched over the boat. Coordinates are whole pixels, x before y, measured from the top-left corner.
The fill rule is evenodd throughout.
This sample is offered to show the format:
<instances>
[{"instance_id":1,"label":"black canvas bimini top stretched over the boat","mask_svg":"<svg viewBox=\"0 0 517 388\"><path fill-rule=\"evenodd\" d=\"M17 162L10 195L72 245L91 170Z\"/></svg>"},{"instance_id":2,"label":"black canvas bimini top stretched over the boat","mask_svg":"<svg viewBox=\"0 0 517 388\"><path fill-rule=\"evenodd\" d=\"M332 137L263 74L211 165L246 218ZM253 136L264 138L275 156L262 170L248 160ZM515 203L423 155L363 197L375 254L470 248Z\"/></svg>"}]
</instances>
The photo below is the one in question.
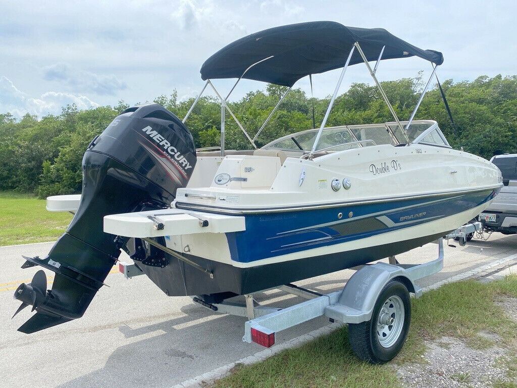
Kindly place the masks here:
<instances>
[{"instance_id":1,"label":"black canvas bimini top stretched over the boat","mask_svg":"<svg viewBox=\"0 0 517 388\"><path fill-rule=\"evenodd\" d=\"M300 78L343 67L355 42L368 61L418 56L436 65L442 53L422 50L391 35L383 28L346 27L336 22L309 22L265 29L240 38L209 57L201 67L203 80L244 77L277 85L293 86ZM272 56L272 57L271 57ZM350 65L363 62L354 52Z\"/></svg>"}]
</instances>

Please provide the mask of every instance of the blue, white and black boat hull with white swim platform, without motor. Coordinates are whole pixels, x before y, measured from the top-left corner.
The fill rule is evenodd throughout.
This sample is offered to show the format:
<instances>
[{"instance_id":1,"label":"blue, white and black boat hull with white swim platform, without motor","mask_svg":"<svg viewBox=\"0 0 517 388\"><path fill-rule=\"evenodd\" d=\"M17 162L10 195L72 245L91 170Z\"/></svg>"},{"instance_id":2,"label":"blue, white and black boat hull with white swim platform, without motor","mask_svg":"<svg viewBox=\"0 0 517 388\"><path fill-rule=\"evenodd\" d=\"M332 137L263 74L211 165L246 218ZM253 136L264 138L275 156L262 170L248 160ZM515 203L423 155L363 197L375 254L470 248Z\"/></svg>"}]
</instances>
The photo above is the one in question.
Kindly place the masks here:
<instances>
[{"instance_id":1,"label":"blue, white and black boat hull with white swim platform, without motor","mask_svg":"<svg viewBox=\"0 0 517 388\"><path fill-rule=\"evenodd\" d=\"M194 171L199 182L206 163ZM171 255L164 268L143 265L169 295L251 293L398 255L474 218L501 186L490 162L422 144L313 160L227 156L209 179L210 187L178 189L173 210L153 213L162 230L151 229L149 212L104 218L105 232L154 237L214 276Z\"/></svg>"}]
</instances>

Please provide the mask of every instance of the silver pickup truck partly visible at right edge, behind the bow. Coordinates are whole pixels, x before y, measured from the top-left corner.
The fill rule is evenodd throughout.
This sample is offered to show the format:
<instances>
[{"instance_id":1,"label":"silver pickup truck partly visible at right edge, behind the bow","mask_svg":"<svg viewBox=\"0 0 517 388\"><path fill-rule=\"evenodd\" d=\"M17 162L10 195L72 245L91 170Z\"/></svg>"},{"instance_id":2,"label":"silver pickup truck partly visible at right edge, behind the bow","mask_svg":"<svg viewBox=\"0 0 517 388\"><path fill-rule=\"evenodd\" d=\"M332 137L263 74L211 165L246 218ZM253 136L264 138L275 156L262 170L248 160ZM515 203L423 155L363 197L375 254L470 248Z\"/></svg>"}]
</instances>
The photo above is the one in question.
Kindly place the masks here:
<instances>
[{"instance_id":1,"label":"silver pickup truck partly visible at right edge, behind the bow","mask_svg":"<svg viewBox=\"0 0 517 388\"><path fill-rule=\"evenodd\" d=\"M478 219L486 230L517 233L517 154L496 155L490 161L503 173L504 186Z\"/></svg>"}]
</instances>

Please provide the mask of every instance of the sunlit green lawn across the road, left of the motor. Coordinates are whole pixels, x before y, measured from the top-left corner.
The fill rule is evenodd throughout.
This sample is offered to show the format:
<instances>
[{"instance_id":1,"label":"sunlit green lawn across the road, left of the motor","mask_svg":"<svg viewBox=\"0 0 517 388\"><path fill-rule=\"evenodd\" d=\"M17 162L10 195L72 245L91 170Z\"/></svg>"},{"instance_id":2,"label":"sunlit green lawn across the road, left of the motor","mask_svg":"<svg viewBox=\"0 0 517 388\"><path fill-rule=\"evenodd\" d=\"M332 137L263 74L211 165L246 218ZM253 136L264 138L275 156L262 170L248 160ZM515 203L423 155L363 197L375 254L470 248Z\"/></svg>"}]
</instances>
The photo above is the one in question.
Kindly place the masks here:
<instances>
[{"instance_id":1,"label":"sunlit green lawn across the road, left of the motor","mask_svg":"<svg viewBox=\"0 0 517 388\"><path fill-rule=\"evenodd\" d=\"M54 241L71 220L70 213L48 212L33 195L0 191L0 246Z\"/></svg>"}]
</instances>

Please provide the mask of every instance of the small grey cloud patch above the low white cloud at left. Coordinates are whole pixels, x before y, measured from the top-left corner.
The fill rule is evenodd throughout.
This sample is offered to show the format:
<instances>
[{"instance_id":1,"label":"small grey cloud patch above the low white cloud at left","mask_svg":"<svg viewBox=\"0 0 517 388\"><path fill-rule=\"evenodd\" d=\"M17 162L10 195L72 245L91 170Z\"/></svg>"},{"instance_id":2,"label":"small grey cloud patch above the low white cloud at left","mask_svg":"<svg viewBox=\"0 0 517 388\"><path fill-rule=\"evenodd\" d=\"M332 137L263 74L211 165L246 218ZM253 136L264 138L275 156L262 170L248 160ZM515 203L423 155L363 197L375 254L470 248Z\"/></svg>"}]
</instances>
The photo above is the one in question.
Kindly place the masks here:
<instances>
[{"instance_id":1,"label":"small grey cloud patch above the low white cloud at left","mask_svg":"<svg viewBox=\"0 0 517 388\"><path fill-rule=\"evenodd\" d=\"M113 74L98 76L82 69L74 69L68 64L58 63L43 68L43 78L47 81L58 81L72 86L79 92L94 92L99 95L115 95L127 85Z\"/></svg>"}]
</instances>

